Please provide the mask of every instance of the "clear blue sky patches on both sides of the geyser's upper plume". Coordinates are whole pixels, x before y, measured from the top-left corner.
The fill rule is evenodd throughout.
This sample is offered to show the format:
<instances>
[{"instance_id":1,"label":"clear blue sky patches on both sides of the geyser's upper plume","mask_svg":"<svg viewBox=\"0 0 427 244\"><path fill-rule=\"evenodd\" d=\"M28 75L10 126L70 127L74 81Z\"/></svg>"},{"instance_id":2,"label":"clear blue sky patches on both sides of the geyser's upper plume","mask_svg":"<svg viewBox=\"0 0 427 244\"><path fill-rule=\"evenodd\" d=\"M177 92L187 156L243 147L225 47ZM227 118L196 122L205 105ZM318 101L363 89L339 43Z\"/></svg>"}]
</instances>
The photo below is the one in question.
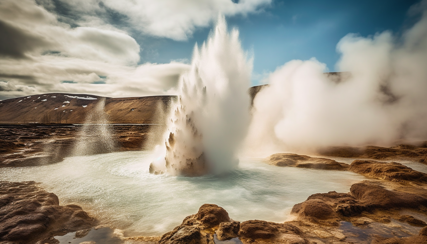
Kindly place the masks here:
<instances>
[{"instance_id":1,"label":"clear blue sky patches on both sides of the geyser's upper plume","mask_svg":"<svg viewBox=\"0 0 427 244\"><path fill-rule=\"evenodd\" d=\"M258 13L227 18L237 27L244 49L253 50L254 73L274 71L292 59L316 57L338 71L336 44L348 33L362 36L391 30L396 35L412 26L416 18L408 9L416 0L301 0L274 1ZM166 38L137 38L146 47L140 62L166 63L190 59L194 43L202 43L211 26L199 28L193 38L174 41ZM254 77L254 83L256 83Z\"/></svg>"}]
</instances>

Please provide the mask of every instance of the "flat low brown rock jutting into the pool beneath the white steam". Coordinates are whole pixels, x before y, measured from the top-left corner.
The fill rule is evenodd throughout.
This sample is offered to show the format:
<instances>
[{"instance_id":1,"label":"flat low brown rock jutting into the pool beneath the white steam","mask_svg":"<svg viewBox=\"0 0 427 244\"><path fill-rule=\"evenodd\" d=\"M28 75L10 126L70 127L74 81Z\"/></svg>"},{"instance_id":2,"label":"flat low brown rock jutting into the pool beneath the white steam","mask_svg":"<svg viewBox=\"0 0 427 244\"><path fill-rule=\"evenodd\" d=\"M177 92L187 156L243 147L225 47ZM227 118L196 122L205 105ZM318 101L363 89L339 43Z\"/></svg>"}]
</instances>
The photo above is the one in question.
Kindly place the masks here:
<instances>
[{"instance_id":1,"label":"flat low brown rock jutting into the pool beneath the white steam","mask_svg":"<svg viewBox=\"0 0 427 244\"><path fill-rule=\"evenodd\" d=\"M312 158L293 153L275 153L267 158L267 162L276 166L293 166L299 168L314 168L324 170L345 170L348 165L332 159Z\"/></svg>"}]
</instances>

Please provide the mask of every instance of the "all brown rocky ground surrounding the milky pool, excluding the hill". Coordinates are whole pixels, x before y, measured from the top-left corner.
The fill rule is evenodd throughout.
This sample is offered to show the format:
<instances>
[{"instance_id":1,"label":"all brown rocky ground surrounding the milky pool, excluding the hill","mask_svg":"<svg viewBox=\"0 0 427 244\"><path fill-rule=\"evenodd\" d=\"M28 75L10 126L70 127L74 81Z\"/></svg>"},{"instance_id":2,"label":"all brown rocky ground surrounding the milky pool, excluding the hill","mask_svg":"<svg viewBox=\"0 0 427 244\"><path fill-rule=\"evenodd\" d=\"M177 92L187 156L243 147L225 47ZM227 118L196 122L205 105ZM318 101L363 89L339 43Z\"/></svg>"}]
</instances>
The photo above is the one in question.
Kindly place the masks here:
<instances>
[{"instance_id":1,"label":"all brown rocky ground surrounding the milky pool, excluding the hill","mask_svg":"<svg viewBox=\"0 0 427 244\"><path fill-rule=\"evenodd\" d=\"M115 151L140 150L159 131L148 125L114 125L107 130ZM84 140L93 140L91 144L97 144L98 140L98 144L102 144L102 135L96 135L99 131L105 130L64 125L0 127L0 167L59 162L62 157L76 152L72 147L82 139L82 132L89 134ZM111 150L94 147L85 153L102 153L108 149ZM279 167L346 170L370 180L353 184L350 192L330 191L308 196L292 208L295 219L284 223L263 220L240 223L220 206L204 204L197 213L162 236L124 237L118 231L108 230L110 242L104 243L425 244L427 174L392 162L392 159L425 163L426 153L425 144L401 144L391 148L333 147L320 153L359 158L351 164L337 162L339 159L273 154L266 163ZM75 238L82 238L83 244L94 244L90 238L83 240L96 233L97 224L97 220L79 206L59 205L55 194L44 191L35 182L0 182L2 244L57 244L53 236L69 232L74 232Z\"/></svg>"}]
</instances>

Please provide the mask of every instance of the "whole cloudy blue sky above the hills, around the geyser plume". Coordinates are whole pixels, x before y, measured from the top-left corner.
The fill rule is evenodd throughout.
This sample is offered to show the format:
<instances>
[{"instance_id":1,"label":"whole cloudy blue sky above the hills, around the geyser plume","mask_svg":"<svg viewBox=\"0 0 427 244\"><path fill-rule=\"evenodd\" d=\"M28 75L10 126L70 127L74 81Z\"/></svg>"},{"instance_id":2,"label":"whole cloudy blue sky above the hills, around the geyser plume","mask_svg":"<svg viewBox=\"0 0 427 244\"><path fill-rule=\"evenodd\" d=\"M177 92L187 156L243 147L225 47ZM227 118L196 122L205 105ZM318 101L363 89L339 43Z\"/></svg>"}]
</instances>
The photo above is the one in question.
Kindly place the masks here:
<instances>
[{"instance_id":1,"label":"whole cloudy blue sky above the hills, around the geyser plume","mask_svg":"<svg viewBox=\"0 0 427 244\"><path fill-rule=\"evenodd\" d=\"M193 47L219 13L253 56L252 85L293 59L342 71L349 33L389 31L396 43L427 1L2 0L0 100L65 92L107 97L176 94Z\"/></svg>"}]
</instances>

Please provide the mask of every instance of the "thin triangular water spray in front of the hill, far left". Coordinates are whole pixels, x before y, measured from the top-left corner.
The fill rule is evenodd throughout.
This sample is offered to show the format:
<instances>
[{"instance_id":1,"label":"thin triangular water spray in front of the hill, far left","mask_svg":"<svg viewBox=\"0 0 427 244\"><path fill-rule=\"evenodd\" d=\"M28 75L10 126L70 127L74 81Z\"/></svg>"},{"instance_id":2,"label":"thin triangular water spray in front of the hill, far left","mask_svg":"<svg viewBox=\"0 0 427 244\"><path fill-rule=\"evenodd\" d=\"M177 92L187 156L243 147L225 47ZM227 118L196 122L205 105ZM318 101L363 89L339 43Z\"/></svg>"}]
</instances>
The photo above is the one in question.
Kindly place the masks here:
<instances>
[{"instance_id":1,"label":"thin triangular water spray in front of the hill, far left","mask_svg":"<svg viewBox=\"0 0 427 244\"><path fill-rule=\"evenodd\" d=\"M99 102L88 113L88 117L77 135L73 156L110 153L114 150L112 128L104 108L105 97L99 99Z\"/></svg>"}]
</instances>

